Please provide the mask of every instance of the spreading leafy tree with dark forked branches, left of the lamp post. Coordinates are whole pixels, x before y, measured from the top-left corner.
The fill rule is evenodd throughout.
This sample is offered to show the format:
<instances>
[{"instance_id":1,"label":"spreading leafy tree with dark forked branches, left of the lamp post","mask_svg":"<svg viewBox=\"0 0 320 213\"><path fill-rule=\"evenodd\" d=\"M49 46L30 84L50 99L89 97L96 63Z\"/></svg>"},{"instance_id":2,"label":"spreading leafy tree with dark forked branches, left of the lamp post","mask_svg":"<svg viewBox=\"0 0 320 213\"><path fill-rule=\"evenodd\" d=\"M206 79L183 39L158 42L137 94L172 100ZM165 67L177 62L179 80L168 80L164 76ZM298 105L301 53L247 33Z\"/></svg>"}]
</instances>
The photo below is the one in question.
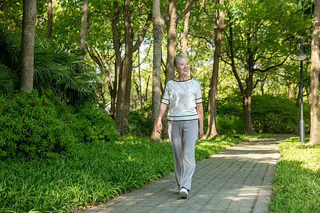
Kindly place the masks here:
<instances>
[{"instance_id":1,"label":"spreading leafy tree with dark forked branches, left of the lamp post","mask_svg":"<svg viewBox=\"0 0 320 213\"><path fill-rule=\"evenodd\" d=\"M247 12L239 13L244 8L248 9ZM243 1L234 9L230 14L237 16L238 22L230 25L228 34L225 32L230 60L224 61L232 67L242 94L245 131L253 133L252 92L259 82L265 81L268 72L276 70L287 60L294 42L294 39L289 38L301 30L297 28L301 20L294 16L295 10L289 1ZM292 16L282 16L283 13Z\"/></svg>"}]
</instances>

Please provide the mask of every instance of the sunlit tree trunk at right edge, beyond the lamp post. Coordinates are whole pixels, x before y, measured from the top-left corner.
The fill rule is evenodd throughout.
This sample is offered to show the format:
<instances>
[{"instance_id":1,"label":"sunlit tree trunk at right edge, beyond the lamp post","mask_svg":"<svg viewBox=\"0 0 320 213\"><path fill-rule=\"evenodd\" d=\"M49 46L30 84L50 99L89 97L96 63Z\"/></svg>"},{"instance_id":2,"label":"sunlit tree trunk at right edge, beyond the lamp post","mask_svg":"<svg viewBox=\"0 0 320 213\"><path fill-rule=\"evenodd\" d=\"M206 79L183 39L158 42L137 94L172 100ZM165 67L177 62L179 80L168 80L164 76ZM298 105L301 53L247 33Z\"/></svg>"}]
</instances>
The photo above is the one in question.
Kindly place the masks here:
<instances>
[{"instance_id":1,"label":"sunlit tree trunk at right edge, beyond the lamp post","mask_svg":"<svg viewBox=\"0 0 320 213\"><path fill-rule=\"evenodd\" d=\"M319 112L319 43L320 43L320 0L314 6L314 32L311 41L311 128L308 145L320 142L320 112Z\"/></svg>"}]
</instances>

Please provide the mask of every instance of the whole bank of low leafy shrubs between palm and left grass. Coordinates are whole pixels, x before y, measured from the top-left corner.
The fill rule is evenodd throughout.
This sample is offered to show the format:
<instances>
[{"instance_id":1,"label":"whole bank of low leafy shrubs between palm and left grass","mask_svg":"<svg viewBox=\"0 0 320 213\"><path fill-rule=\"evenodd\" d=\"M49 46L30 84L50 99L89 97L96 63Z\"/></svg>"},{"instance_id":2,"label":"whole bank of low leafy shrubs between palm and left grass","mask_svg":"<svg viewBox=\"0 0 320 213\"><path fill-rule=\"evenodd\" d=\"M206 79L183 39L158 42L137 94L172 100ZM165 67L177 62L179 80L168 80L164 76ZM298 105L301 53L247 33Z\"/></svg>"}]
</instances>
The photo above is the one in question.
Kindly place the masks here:
<instances>
[{"instance_id":1,"label":"whole bank of low leafy shrubs between palm and left grass","mask_svg":"<svg viewBox=\"0 0 320 213\"><path fill-rule=\"evenodd\" d=\"M50 98L49 98L50 97ZM0 157L43 158L70 153L78 143L117 138L113 120L87 102L61 104L51 92L0 96Z\"/></svg>"}]
</instances>

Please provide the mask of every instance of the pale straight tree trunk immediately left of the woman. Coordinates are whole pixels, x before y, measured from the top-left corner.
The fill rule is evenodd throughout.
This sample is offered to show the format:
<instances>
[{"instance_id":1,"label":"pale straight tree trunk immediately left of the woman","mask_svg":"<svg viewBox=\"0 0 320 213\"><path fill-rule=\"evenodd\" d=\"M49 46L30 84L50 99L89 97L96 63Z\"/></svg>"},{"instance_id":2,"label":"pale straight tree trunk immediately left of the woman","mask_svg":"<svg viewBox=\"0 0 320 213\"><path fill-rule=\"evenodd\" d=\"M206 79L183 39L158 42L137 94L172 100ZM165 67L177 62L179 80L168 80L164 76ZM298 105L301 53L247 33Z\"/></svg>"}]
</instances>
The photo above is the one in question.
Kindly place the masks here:
<instances>
[{"instance_id":1,"label":"pale straight tree trunk immediately left of the woman","mask_svg":"<svg viewBox=\"0 0 320 213\"><path fill-rule=\"evenodd\" d=\"M161 143L161 134L156 132L156 120L158 119L161 103L161 41L164 31L164 21L161 18L160 0L153 1L154 24L154 58L152 72L152 130L150 141Z\"/></svg>"}]
</instances>

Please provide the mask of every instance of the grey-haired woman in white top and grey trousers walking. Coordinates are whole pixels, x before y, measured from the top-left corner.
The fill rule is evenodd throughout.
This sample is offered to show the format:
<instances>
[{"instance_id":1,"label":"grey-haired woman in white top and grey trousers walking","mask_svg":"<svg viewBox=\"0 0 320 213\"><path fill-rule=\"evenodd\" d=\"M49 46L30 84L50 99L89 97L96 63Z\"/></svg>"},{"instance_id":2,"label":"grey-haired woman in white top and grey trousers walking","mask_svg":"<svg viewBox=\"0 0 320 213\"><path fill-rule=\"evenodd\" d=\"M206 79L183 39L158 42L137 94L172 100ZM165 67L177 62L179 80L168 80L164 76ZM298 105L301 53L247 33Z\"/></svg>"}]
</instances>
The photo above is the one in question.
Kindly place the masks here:
<instances>
[{"instance_id":1,"label":"grey-haired woman in white top and grey trousers walking","mask_svg":"<svg viewBox=\"0 0 320 213\"><path fill-rule=\"evenodd\" d=\"M186 199L191 190L191 179L196 168L195 146L203 137L203 107L201 84L188 76L189 63L184 55L174 58L178 77L169 80L164 89L156 131L161 133L162 117L168 110L168 132L174 155L174 170L179 195Z\"/></svg>"}]
</instances>

